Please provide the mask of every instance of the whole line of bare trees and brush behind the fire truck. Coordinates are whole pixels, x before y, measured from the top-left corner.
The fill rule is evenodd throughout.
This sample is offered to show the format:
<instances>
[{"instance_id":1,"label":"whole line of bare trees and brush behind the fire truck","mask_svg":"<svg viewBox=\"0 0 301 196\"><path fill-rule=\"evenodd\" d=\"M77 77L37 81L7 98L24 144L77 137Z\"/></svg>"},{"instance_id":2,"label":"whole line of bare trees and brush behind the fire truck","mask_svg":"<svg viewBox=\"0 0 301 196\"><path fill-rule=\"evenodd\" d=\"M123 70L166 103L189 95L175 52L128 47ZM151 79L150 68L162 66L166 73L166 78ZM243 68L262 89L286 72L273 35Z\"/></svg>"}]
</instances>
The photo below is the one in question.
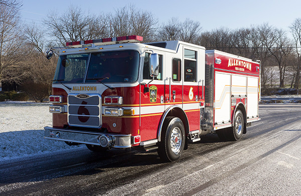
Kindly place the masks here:
<instances>
[{"instance_id":1,"label":"whole line of bare trees and brush behind the fire truck","mask_svg":"<svg viewBox=\"0 0 301 196\"><path fill-rule=\"evenodd\" d=\"M113 13L85 14L70 6L64 13L48 13L43 25L24 25L20 0L0 0L0 85L17 83L29 96L42 101L51 93L57 58L47 60L50 47L66 42L139 35L143 42L180 40L261 61L261 87L299 89L301 72L301 18L289 31L267 23L249 28L203 31L199 21L171 18L160 23L149 11L134 5ZM275 69L277 68L277 69Z\"/></svg>"}]
</instances>

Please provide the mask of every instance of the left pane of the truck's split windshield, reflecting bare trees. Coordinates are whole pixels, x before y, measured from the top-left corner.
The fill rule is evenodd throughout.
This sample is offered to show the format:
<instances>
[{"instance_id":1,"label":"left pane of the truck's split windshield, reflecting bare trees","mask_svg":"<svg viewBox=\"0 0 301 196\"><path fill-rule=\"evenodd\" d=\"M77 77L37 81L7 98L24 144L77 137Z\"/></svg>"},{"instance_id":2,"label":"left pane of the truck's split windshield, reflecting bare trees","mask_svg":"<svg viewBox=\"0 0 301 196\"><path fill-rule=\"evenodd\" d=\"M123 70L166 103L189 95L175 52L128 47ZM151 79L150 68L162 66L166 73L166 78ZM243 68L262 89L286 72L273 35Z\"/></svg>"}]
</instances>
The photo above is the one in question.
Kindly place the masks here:
<instances>
[{"instance_id":1,"label":"left pane of the truck's split windshield, reflecting bare trees","mask_svg":"<svg viewBox=\"0 0 301 196\"><path fill-rule=\"evenodd\" d=\"M53 83L83 83L89 54L59 57Z\"/></svg>"}]
</instances>

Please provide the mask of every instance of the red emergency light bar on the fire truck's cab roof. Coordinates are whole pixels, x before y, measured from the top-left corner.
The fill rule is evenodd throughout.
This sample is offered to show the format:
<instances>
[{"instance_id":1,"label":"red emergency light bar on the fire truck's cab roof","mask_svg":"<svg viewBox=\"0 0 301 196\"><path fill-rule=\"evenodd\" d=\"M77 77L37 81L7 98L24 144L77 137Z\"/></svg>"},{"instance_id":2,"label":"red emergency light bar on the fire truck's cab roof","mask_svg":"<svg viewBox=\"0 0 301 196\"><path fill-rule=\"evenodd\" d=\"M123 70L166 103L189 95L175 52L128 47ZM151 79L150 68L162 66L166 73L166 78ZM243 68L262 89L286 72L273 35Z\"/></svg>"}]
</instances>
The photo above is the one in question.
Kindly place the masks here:
<instances>
[{"instance_id":1,"label":"red emergency light bar on the fire truck's cab roof","mask_svg":"<svg viewBox=\"0 0 301 196\"><path fill-rule=\"evenodd\" d=\"M111 37L97 40L86 40L86 41L77 41L77 42L67 42L66 46L79 48L84 44L94 44L95 46L116 44L116 43L135 43L143 41L143 37L137 35L131 36L122 36L122 37Z\"/></svg>"}]
</instances>

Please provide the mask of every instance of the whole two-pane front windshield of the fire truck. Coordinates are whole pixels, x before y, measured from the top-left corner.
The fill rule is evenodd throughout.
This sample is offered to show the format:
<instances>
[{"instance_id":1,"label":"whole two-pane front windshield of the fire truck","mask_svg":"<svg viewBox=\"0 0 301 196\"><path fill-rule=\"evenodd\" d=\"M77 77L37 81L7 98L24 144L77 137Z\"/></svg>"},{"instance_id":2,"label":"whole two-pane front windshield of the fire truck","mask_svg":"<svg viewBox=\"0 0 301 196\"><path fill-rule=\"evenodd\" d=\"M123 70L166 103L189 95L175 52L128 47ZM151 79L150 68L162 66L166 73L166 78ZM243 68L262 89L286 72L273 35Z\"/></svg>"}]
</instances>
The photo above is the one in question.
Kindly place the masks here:
<instances>
[{"instance_id":1,"label":"whole two-pane front windshield of the fire truck","mask_svg":"<svg viewBox=\"0 0 301 196\"><path fill-rule=\"evenodd\" d=\"M62 55L54 83L135 82L138 79L139 52L133 50Z\"/></svg>"}]
</instances>

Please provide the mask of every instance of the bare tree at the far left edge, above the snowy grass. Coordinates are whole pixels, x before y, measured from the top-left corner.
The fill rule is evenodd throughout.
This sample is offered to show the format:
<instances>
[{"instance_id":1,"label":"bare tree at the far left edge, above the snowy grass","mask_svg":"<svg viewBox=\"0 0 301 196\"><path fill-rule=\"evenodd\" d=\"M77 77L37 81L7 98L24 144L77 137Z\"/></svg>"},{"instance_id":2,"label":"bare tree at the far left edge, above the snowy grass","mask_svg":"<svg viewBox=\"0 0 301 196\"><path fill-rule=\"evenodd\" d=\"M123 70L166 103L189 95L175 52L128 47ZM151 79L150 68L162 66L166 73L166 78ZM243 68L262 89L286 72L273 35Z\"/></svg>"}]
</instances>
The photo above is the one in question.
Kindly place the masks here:
<instances>
[{"instance_id":1,"label":"bare tree at the far left edge, above the snowy grass","mask_svg":"<svg viewBox=\"0 0 301 196\"><path fill-rule=\"evenodd\" d=\"M28 52L21 35L18 1L0 4L0 85L2 82L20 82L27 73L23 64Z\"/></svg>"}]
</instances>

